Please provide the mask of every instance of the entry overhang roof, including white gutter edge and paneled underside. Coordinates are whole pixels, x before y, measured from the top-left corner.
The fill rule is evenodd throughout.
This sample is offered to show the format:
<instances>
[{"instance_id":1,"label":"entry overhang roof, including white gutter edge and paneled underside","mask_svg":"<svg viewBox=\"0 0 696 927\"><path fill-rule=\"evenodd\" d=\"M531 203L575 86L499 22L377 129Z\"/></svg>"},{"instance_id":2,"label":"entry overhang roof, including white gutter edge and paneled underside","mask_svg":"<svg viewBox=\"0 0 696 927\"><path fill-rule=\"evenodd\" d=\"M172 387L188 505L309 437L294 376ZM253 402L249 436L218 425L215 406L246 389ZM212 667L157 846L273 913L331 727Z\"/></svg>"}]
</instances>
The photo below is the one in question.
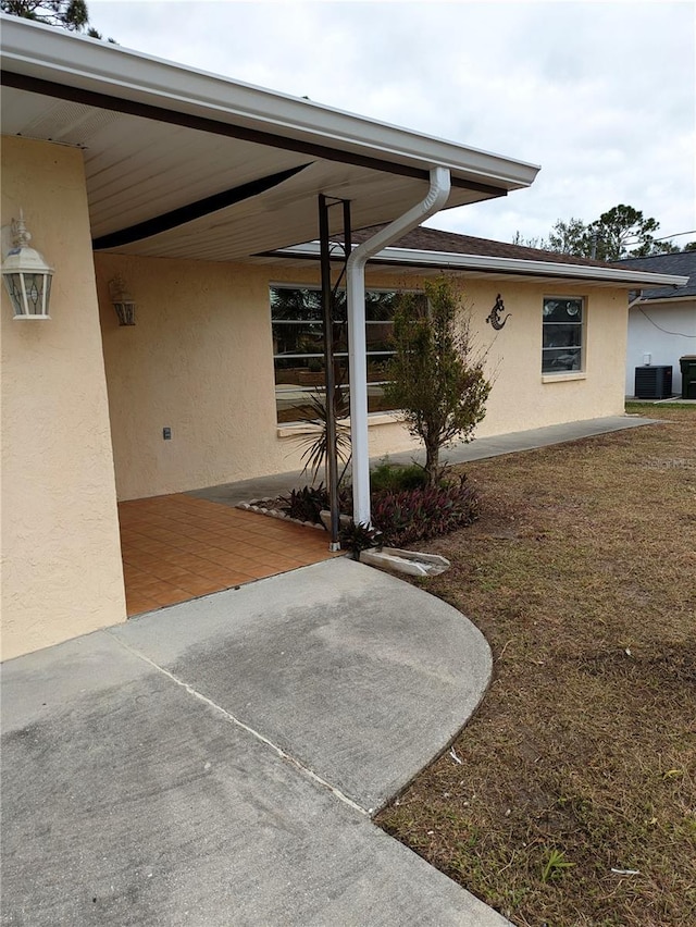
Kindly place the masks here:
<instances>
[{"instance_id":1,"label":"entry overhang roof, including white gutter edge and paneled underside","mask_svg":"<svg viewBox=\"0 0 696 927\"><path fill-rule=\"evenodd\" d=\"M84 150L96 249L235 260L314 238L320 193L349 199L360 228L422 199L433 166L451 172L447 208L527 187L538 172L97 39L1 18L2 132Z\"/></svg>"}]
</instances>

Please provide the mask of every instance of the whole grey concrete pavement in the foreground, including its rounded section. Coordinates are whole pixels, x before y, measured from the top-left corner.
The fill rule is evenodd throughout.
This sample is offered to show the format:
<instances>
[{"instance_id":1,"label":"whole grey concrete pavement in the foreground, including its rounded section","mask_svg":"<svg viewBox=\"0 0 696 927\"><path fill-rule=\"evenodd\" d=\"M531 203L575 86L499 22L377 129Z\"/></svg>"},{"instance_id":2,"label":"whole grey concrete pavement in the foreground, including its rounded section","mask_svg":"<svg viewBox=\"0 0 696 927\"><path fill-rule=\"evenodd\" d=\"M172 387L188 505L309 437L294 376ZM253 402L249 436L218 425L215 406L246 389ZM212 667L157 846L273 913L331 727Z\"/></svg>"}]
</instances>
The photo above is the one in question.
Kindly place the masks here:
<instances>
[{"instance_id":1,"label":"whole grey concrete pavement in the foreground, including its rounded section","mask_svg":"<svg viewBox=\"0 0 696 927\"><path fill-rule=\"evenodd\" d=\"M489 673L458 611L345 558L5 663L2 923L501 927L370 819Z\"/></svg>"}]
</instances>

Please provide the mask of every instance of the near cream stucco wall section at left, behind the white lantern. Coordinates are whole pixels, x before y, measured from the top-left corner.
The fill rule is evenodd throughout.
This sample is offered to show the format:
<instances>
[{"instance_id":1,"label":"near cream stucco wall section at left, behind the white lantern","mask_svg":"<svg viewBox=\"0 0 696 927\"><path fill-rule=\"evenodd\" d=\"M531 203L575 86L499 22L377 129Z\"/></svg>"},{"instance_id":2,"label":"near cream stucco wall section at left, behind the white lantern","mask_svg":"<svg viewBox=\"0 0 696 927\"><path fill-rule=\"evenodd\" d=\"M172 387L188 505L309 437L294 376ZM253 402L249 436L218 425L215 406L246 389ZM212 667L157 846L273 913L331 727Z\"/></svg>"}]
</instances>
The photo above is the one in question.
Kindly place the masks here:
<instances>
[{"instance_id":1,"label":"near cream stucco wall section at left, behind the white lantern","mask_svg":"<svg viewBox=\"0 0 696 927\"><path fill-rule=\"evenodd\" d=\"M2 225L24 210L55 268L51 321L2 286L2 657L125 619L83 160L2 139Z\"/></svg>"}]
</instances>

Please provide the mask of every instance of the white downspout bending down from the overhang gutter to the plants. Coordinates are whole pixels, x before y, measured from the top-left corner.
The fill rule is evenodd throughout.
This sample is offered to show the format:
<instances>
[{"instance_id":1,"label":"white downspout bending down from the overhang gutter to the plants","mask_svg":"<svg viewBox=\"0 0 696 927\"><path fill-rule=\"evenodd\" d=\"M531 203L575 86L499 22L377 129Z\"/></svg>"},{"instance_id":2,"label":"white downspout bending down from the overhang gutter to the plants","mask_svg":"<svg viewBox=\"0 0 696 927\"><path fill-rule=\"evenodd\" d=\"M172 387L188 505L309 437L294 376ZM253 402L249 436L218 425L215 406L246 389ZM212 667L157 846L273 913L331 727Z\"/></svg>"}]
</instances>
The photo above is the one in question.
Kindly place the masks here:
<instances>
[{"instance_id":1,"label":"white downspout bending down from the overhang gutter to the plants","mask_svg":"<svg viewBox=\"0 0 696 927\"><path fill-rule=\"evenodd\" d=\"M352 518L371 524L370 453L368 448L368 356L365 337L365 264L383 248L415 228L447 202L448 168L431 168L425 199L395 219L351 251L346 269L348 300L348 357L350 370L350 441L352 448Z\"/></svg>"}]
</instances>

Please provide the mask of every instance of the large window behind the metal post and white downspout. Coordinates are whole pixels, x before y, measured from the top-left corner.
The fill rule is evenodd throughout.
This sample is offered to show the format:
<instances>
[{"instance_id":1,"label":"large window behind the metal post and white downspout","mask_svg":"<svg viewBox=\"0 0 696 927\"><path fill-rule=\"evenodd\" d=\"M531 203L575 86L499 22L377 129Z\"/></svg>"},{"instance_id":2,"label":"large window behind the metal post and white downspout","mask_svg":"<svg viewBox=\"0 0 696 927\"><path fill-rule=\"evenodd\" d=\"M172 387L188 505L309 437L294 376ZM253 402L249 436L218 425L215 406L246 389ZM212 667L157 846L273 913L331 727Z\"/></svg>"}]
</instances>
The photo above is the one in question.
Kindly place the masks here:
<instances>
[{"instance_id":1,"label":"large window behind the metal post and white downspout","mask_svg":"<svg viewBox=\"0 0 696 927\"><path fill-rule=\"evenodd\" d=\"M391 347L397 294L368 291L368 409L385 409L384 382ZM348 326L346 295L339 292L334 308L332 341L338 390L348 398ZM324 326L319 288L272 286L273 363L275 401L279 422L314 418L310 401L324 392Z\"/></svg>"}]
</instances>

